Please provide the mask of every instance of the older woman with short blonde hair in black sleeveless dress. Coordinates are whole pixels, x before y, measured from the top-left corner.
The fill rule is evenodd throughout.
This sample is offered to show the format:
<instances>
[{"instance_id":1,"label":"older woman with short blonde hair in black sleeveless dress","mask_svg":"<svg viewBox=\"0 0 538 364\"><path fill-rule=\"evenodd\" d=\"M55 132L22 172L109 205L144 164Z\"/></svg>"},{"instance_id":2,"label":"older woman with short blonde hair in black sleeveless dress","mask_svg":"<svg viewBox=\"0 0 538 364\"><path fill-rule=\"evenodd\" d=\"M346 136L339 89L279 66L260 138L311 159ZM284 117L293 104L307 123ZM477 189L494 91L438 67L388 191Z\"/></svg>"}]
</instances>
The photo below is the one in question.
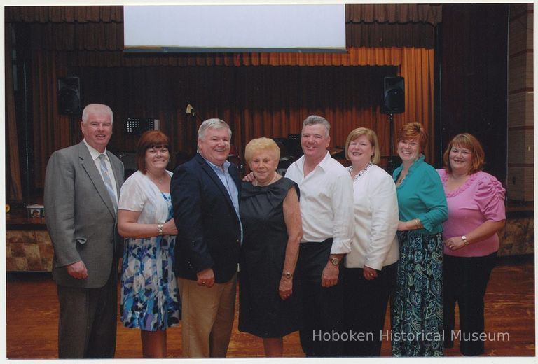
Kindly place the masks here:
<instances>
[{"instance_id":1,"label":"older woman with short blonde hair in black sleeveless dress","mask_svg":"<svg viewBox=\"0 0 538 364\"><path fill-rule=\"evenodd\" d=\"M255 180L243 182L240 213L239 330L263 339L265 356L282 356L282 337L298 330L294 270L303 228L298 186L277 174L280 149L273 139L253 139L245 159Z\"/></svg>"}]
</instances>

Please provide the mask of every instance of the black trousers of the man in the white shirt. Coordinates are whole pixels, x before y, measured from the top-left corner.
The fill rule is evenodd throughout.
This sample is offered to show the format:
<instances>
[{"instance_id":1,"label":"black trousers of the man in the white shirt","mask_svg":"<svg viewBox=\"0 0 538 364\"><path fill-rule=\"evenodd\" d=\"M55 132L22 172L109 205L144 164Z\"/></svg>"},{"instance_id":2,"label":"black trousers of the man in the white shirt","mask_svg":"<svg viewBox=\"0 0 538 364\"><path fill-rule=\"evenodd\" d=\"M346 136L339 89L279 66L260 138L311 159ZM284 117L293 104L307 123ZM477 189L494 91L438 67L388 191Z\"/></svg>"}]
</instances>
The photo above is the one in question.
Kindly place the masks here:
<instances>
[{"instance_id":1,"label":"black trousers of the man in the white shirt","mask_svg":"<svg viewBox=\"0 0 538 364\"><path fill-rule=\"evenodd\" d=\"M331 253L333 239L321 243L301 243L298 277L301 281L303 311L299 337L307 357L341 356L342 284L322 287L322 272Z\"/></svg>"}]
</instances>

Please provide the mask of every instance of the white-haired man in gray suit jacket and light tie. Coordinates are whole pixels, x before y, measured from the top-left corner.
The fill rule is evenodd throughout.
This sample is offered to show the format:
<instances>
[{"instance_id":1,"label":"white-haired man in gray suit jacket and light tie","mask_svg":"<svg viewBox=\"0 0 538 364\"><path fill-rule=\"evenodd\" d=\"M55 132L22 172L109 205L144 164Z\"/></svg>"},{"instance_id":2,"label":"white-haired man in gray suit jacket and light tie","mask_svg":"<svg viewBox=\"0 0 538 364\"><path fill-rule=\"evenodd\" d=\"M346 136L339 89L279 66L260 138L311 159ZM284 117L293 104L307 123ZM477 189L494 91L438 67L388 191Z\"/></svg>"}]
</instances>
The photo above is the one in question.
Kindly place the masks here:
<instances>
[{"instance_id":1,"label":"white-haired man in gray suit jacket and light tie","mask_svg":"<svg viewBox=\"0 0 538 364\"><path fill-rule=\"evenodd\" d=\"M48 160L45 208L60 302L59 358L113 358L116 351L116 212L124 169L106 151L112 122L109 106L89 104L83 141Z\"/></svg>"}]
</instances>

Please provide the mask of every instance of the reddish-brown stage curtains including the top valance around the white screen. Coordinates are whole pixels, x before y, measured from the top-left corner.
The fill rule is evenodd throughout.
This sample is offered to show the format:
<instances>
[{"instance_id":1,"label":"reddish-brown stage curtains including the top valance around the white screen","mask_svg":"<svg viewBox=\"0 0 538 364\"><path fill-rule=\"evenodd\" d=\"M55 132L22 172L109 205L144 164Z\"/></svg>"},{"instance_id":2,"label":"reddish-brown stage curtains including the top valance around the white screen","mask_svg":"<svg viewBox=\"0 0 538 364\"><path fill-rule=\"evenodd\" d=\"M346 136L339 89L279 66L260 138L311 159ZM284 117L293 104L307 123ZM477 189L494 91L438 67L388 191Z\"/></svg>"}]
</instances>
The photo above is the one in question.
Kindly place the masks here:
<instances>
[{"instance_id":1,"label":"reddish-brown stage curtains including the top valance around the white screen","mask_svg":"<svg viewBox=\"0 0 538 364\"><path fill-rule=\"evenodd\" d=\"M64 76L81 78L83 104L112 106L115 151L135 148L137 137L123 132L130 116L159 118L173 152L193 151L200 120L186 115L190 103L198 116L228 121L240 151L254 137L298 133L305 116L319 113L333 125L332 148L366 126L387 155L382 76L396 75L406 78L406 112L394 116L396 127L418 120L433 134L429 42L440 5L347 5L344 54L124 55L123 6L9 6L5 15L30 28L36 187L50 153L81 139L79 120L57 113L56 81Z\"/></svg>"}]
</instances>

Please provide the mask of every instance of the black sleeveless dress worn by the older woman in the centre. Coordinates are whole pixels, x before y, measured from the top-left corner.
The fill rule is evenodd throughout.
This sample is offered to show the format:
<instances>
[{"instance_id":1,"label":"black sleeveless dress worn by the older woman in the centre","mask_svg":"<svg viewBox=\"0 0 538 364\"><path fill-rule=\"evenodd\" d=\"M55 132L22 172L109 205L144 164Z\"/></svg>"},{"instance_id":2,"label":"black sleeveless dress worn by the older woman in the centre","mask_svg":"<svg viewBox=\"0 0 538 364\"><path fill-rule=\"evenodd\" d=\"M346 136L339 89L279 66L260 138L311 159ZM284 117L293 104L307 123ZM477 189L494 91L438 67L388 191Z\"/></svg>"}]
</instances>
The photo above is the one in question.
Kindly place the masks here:
<instances>
[{"instance_id":1,"label":"black sleeveless dress worn by the older woman in the centre","mask_svg":"<svg viewBox=\"0 0 538 364\"><path fill-rule=\"evenodd\" d=\"M269 186L242 184L239 330L258 337L282 337L299 328L300 288L295 276L293 294L287 300L278 294L288 241L283 202L292 187L298 194L297 184L287 178Z\"/></svg>"}]
</instances>

